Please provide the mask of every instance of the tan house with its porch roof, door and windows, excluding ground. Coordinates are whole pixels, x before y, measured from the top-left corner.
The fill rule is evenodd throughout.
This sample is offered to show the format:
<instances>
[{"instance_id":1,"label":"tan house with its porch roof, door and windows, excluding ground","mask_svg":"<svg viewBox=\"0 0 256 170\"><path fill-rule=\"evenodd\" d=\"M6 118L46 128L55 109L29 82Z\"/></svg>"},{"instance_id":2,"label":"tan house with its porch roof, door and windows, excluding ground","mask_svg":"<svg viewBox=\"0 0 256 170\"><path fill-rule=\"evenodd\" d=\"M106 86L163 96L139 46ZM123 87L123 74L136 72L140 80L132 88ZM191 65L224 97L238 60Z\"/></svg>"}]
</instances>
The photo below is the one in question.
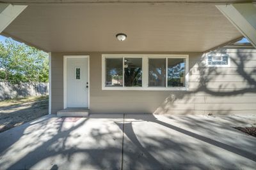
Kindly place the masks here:
<instances>
[{"instance_id":1,"label":"tan house with its porch roof, door and windows, excluding ground","mask_svg":"<svg viewBox=\"0 0 256 170\"><path fill-rule=\"evenodd\" d=\"M49 52L49 113L256 113L250 1L15 5L0 31ZM234 44L243 36L252 45Z\"/></svg>"}]
</instances>

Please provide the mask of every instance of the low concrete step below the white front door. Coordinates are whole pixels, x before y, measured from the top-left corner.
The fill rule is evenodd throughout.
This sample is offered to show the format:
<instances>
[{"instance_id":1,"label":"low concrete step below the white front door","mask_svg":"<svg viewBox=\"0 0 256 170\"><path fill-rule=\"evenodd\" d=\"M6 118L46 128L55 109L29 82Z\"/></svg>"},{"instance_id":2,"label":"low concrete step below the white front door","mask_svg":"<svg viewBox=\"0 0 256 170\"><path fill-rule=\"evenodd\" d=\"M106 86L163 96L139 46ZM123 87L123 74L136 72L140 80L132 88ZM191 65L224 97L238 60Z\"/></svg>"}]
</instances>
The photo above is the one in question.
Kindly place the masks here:
<instances>
[{"instance_id":1,"label":"low concrete step below the white front door","mask_svg":"<svg viewBox=\"0 0 256 170\"><path fill-rule=\"evenodd\" d=\"M57 111L58 117L88 117L89 111L86 108L70 108Z\"/></svg>"}]
</instances>

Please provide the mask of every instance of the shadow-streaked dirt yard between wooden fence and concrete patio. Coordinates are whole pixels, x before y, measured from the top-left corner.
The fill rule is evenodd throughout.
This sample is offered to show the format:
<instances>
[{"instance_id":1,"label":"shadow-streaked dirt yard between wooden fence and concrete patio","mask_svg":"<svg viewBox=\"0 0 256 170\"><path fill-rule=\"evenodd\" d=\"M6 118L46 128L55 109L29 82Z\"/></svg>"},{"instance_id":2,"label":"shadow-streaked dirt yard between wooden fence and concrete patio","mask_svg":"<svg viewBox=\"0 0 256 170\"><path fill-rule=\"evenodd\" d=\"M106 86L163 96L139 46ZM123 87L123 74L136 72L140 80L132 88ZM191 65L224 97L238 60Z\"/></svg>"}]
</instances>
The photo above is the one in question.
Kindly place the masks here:
<instances>
[{"instance_id":1,"label":"shadow-streaked dirt yard between wooden fence and concrete patio","mask_svg":"<svg viewBox=\"0 0 256 170\"><path fill-rule=\"evenodd\" d=\"M0 102L0 132L48 114L48 97L26 97Z\"/></svg>"}]
</instances>

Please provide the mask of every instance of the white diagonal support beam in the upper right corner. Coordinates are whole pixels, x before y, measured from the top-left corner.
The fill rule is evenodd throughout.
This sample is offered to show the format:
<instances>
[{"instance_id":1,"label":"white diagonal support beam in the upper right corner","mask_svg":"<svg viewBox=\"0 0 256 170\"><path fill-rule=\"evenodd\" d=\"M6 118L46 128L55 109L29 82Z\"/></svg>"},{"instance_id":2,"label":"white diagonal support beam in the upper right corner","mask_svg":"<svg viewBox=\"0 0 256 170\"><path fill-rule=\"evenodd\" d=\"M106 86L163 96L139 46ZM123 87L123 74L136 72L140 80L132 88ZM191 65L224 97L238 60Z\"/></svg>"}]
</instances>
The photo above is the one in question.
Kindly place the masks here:
<instances>
[{"instance_id":1,"label":"white diagonal support beam in the upper right corner","mask_svg":"<svg viewBox=\"0 0 256 170\"><path fill-rule=\"evenodd\" d=\"M216 5L256 48L256 7L252 3Z\"/></svg>"}]
</instances>

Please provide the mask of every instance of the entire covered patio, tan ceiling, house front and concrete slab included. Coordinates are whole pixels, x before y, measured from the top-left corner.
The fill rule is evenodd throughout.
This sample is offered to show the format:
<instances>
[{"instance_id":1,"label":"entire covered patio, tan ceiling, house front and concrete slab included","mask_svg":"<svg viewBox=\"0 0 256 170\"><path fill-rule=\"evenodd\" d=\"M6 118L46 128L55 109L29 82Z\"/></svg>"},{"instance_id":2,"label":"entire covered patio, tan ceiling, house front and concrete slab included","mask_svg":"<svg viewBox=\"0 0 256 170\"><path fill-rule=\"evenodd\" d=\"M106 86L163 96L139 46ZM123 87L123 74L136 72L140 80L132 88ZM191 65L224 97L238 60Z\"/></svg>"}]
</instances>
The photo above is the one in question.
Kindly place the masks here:
<instances>
[{"instance_id":1,"label":"entire covered patio, tan ceiling, house front and concrete slab included","mask_svg":"<svg viewBox=\"0 0 256 170\"><path fill-rule=\"evenodd\" d=\"M0 134L0 169L255 169L255 138L233 127L256 124L256 50L220 48L256 47L253 1L0 5L1 34L49 52L50 83L49 115ZM227 66L209 67L212 51ZM125 87L136 58L140 85Z\"/></svg>"}]
</instances>

